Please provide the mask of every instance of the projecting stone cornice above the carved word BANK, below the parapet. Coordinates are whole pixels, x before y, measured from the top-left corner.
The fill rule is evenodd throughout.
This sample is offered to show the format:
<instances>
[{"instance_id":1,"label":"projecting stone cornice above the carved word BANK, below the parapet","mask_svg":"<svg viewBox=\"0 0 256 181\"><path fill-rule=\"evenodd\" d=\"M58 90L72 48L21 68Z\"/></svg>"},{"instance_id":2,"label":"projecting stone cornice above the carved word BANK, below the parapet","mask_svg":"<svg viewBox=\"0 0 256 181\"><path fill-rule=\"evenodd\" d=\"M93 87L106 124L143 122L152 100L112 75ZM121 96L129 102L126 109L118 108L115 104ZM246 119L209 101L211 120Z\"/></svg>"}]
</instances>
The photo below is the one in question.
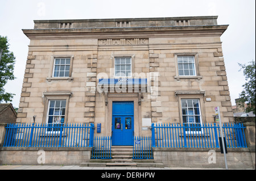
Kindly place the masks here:
<instances>
[{"instance_id":1,"label":"projecting stone cornice above the carved word BANK, below the parapet","mask_svg":"<svg viewBox=\"0 0 256 181\"><path fill-rule=\"evenodd\" d=\"M75 39L108 37L161 37L161 36L221 36L228 25L213 26L162 26L115 28L51 28L24 29L29 39Z\"/></svg>"}]
</instances>

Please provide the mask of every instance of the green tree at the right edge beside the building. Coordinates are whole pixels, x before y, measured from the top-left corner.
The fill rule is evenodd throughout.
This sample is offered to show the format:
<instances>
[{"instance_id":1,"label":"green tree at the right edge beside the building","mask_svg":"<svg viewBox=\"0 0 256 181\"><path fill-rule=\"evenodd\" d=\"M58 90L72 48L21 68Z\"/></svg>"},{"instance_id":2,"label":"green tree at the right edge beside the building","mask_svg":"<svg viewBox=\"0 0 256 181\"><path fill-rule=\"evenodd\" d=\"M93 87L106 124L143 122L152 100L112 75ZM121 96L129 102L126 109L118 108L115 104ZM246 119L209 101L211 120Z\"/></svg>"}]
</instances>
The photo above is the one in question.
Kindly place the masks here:
<instances>
[{"instance_id":1,"label":"green tree at the right edge beside the building","mask_svg":"<svg viewBox=\"0 0 256 181\"><path fill-rule=\"evenodd\" d=\"M255 115L255 61L250 61L249 65L239 64L241 71L247 81L242 87L243 91L240 93L240 103L246 103L247 107L245 112L253 111Z\"/></svg>"}]
</instances>

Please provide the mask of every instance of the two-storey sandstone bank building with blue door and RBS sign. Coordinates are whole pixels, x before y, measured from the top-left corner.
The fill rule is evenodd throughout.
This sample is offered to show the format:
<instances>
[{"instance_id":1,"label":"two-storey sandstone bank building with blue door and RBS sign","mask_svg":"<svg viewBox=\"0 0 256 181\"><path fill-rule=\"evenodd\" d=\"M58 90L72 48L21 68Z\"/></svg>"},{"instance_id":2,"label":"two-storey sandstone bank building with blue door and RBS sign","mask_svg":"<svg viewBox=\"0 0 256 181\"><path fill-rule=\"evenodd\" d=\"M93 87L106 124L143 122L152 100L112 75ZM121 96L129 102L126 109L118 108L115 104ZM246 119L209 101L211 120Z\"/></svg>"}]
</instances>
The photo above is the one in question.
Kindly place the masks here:
<instances>
[{"instance_id":1,"label":"two-storey sandstone bank building with blue door and RBS sign","mask_svg":"<svg viewBox=\"0 0 256 181\"><path fill-rule=\"evenodd\" d=\"M94 123L130 145L151 123L233 122L217 16L35 20L16 122Z\"/></svg>"}]
</instances>

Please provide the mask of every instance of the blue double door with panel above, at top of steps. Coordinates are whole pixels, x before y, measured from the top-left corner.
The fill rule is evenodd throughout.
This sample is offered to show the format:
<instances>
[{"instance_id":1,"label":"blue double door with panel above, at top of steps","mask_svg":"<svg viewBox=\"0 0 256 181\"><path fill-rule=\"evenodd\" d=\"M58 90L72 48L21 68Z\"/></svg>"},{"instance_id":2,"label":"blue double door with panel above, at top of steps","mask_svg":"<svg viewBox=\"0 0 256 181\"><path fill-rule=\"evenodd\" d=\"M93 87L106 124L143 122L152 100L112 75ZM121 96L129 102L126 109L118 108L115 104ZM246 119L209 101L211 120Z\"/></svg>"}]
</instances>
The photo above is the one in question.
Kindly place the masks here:
<instances>
[{"instance_id":1,"label":"blue double door with panel above, at top of steps","mask_svg":"<svg viewBox=\"0 0 256 181\"><path fill-rule=\"evenodd\" d=\"M113 102L112 145L133 145L134 103Z\"/></svg>"}]
</instances>

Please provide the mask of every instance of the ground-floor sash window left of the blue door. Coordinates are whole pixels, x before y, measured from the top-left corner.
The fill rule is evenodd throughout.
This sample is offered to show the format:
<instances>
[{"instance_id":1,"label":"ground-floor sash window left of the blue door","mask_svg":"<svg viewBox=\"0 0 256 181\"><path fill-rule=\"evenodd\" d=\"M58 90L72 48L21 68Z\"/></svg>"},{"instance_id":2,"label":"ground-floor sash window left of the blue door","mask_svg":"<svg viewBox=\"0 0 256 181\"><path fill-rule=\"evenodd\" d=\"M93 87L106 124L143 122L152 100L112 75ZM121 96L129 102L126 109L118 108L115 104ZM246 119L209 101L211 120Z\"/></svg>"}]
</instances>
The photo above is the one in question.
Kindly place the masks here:
<instances>
[{"instance_id":1,"label":"ground-floor sash window left of the blue door","mask_svg":"<svg viewBox=\"0 0 256 181\"><path fill-rule=\"evenodd\" d=\"M59 131L64 124L66 100L49 100L47 112L47 131Z\"/></svg>"}]
</instances>

